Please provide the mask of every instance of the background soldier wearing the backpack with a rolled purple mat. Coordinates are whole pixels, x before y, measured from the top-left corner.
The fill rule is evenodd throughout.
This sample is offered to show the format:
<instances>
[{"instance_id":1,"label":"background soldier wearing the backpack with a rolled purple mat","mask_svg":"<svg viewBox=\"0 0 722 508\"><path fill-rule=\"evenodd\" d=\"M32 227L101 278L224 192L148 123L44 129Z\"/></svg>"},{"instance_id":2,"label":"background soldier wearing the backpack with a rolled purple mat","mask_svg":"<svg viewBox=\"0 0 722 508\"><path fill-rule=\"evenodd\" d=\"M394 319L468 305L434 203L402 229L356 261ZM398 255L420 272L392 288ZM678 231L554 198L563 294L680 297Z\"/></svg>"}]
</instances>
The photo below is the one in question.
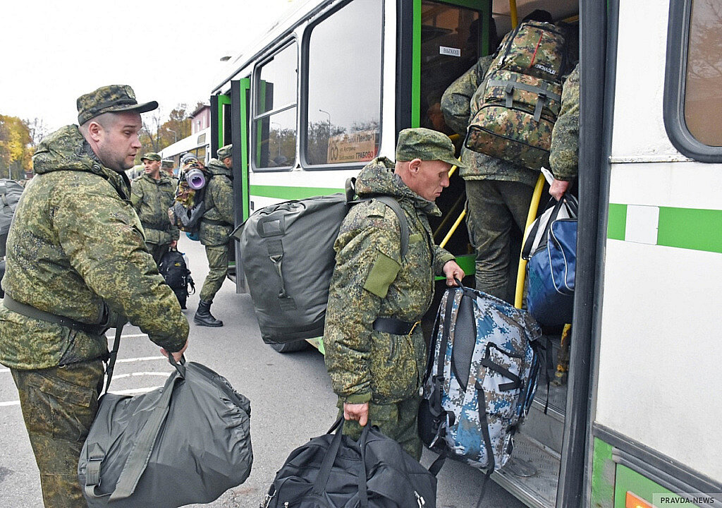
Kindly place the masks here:
<instances>
[{"instance_id":1,"label":"background soldier wearing the backpack with a rolled purple mat","mask_svg":"<svg viewBox=\"0 0 722 508\"><path fill-rule=\"evenodd\" d=\"M217 159L208 161L209 181L204 189L206 212L201 218L199 236L206 246L208 275L203 283L198 311L193 322L201 327L222 327L211 314L211 304L228 275L228 241L233 231L233 145L219 148Z\"/></svg>"}]
</instances>

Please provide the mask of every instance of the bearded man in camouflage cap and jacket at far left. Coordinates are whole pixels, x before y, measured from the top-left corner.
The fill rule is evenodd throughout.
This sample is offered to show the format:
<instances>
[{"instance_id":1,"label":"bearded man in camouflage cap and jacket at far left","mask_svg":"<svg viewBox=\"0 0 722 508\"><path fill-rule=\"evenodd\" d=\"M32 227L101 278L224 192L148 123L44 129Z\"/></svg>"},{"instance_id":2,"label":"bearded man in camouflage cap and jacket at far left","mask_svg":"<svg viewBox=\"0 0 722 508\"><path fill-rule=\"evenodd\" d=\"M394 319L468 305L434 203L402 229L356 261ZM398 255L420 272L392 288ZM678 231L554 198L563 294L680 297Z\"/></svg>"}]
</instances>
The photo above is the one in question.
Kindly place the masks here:
<instances>
[{"instance_id":1,"label":"bearded man in camouflage cap and jacket at far left","mask_svg":"<svg viewBox=\"0 0 722 508\"><path fill-rule=\"evenodd\" d=\"M86 507L80 449L97 413L108 324L129 319L180 360L188 322L158 274L130 204L141 147L129 86L77 100L77 125L45 137L7 240L0 305L0 363L19 392L45 507Z\"/></svg>"}]
</instances>

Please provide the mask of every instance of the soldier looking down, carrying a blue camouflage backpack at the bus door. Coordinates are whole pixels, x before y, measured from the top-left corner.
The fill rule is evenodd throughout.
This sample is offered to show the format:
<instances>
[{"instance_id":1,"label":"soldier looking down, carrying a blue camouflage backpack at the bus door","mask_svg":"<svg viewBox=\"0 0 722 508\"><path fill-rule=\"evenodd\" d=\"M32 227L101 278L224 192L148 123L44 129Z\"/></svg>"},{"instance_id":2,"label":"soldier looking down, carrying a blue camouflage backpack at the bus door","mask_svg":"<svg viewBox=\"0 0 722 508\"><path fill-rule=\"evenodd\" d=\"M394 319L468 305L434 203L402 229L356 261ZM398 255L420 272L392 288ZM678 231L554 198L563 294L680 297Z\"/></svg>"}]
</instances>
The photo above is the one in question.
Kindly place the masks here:
<instances>
[{"instance_id":1,"label":"soldier looking down, carrying a blue camouflage backpack at the bus door","mask_svg":"<svg viewBox=\"0 0 722 508\"><path fill-rule=\"evenodd\" d=\"M409 223L409 250L400 259L399 218L383 202L352 207L336 239L336 267L326 311L326 367L344 433L360 436L368 422L419 459L419 387L426 347L417 326L429 308L434 275L455 285L464 271L434 245L427 215L441 215L434 201L449 184L456 163L451 140L430 129L404 129L396 163L376 158L356 181L360 197L395 198ZM463 165L462 165L463 166ZM357 422L358 423L357 423Z\"/></svg>"}]
</instances>

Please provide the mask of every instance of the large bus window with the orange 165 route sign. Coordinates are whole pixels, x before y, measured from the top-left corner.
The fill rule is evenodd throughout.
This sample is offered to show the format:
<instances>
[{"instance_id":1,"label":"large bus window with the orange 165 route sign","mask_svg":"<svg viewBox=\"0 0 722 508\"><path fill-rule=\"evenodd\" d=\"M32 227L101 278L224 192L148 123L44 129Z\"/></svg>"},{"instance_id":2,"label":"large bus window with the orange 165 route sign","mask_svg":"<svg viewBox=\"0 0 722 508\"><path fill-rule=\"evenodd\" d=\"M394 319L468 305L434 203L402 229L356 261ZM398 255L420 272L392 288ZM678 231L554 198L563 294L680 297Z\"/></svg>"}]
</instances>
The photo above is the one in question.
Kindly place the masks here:
<instances>
[{"instance_id":1,"label":"large bus window with the orange 165 route sign","mask_svg":"<svg viewBox=\"0 0 722 508\"><path fill-rule=\"evenodd\" d=\"M354 0L308 36L305 163L359 163L378 153L381 0Z\"/></svg>"}]
</instances>

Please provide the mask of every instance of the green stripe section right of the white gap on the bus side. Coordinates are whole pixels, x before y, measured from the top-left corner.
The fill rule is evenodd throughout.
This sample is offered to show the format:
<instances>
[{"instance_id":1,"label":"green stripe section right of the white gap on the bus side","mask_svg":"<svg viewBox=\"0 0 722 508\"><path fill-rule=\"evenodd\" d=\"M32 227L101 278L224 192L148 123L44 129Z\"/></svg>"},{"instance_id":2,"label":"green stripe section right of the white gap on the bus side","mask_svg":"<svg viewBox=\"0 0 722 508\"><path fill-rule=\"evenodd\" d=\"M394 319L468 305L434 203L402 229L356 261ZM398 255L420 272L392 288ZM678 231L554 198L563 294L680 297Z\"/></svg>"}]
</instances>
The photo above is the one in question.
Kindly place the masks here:
<instances>
[{"instance_id":1,"label":"green stripe section right of the white gap on the bus side","mask_svg":"<svg viewBox=\"0 0 722 508\"><path fill-rule=\"evenodd\" d=\"M659 207L657 245L722 252L722 210Z\"/></svg>"}]
</instances>

